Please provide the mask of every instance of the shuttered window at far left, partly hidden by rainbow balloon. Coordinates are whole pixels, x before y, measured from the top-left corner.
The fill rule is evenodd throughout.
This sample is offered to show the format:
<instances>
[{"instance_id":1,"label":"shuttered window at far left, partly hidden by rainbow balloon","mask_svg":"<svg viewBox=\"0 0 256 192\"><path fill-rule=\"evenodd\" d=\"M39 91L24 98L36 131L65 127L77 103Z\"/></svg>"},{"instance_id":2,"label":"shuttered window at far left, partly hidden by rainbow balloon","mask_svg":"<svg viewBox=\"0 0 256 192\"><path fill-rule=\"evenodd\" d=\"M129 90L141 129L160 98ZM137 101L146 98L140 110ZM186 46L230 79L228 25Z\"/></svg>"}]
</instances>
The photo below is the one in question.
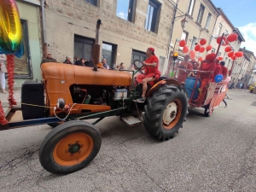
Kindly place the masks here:
<instances>
[{"instance_id":1,"label":"shuttered window at far left, partly hidden by rainbow balloon","mask_svg":"<svg viewBox=\"0 0 256 192\"><path fill-rule=\"evenodd\" d=\"M27 21L20 20L22 29L22 41L24 47L24 55L20 58L15 56L15 78L32 78L32 68L30 67L30 50L27 33Z\"/></svg>"}]
</instances>

